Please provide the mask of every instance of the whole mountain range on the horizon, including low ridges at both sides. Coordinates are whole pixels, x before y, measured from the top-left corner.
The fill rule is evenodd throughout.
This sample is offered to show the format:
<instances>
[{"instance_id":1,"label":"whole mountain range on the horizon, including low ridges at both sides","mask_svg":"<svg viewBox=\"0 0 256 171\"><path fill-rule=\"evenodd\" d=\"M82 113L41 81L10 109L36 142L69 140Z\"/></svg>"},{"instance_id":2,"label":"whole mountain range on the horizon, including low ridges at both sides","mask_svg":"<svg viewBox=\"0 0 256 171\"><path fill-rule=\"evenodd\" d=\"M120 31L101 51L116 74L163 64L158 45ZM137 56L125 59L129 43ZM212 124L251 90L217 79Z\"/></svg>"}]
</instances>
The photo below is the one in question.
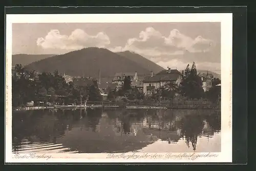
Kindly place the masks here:
<instances>
[{"instance_id":1,"label":"whole mountain range on the horizon, including low ridges at both sides","mask_svg":"<svg viewBox=\"0 0 256 171\"><path fill-rule=\"evenodd\" d=\"M88 52L90 51L90 52ZM84 54L83 54L84 53ZM89 53L89 54L88 54ZM78 58L74 57L77 56ZM84 69L83 64L86 63L84 61L83 57L88 56L100 56L99 59L91 58L91 64L88 64L90 69ZM108 58L111 58L111 56L114 56L113 58L115 60L106 59L104 60L105 54L108 54ZM110 77L114 76L115 72L140 72L140 74L150 74L151 71L153 71L155 74L160 72L161 70L164 70L163 67L157 65L151 60L148 60L144 58L143 56L130 52L130 51L123 51L123 52L112 52L106 48L98 48L98 47L88 47L83 48L81 50L72 51L66 54L61 55L53 55L53 54L42 54L42 55L28 55L28 54L16 54L12 55L14 57L12 59L12 65L15 64L22 64L23 66L26 66L28 69L34 69L38 71L50 71L53 72L54 70L59 70L60 74L71 75L71 76L91 76L91 77L98 77L99 76L99 69L104 68L104 65L112 65L112 67L104 68L101 70L101 77ZM65 58L62 58L65 57ZM19 59L17 59L19 58ZM24 59L25 58L25 59ZM61 58L61 59L60 59ZM70 59L68 59L70 58ZM73 60L71 60L71 58ZM74 60L78 59L77 66L69 67L69 63L74 63ZM100 62L100 60L102 62ZM121 67L116 68L116 64L118 65L118 60L122 61ZM31 62L32 61L32 62ZM61 62L62 61L62 62ZM63 62L64 61L64 62ZM66 62L69 61L69 62ZM80 61L80 62L79 62ZM89 61L89 63L90 63ZM31 62L31 63L29 63ZM98 63L97 63L98 62ZM112 62L112 63L111 63ZM101 64L99 64L101 63ZM96 68L92 68L90 65L95 65ZM127 65L128 64L128 65ZM63 67L61 67L63 65ZM86 64L87 65L87 64ZM93 66L94 66L93 65ZM56 67L57 66L57 67ZM52 67L52 68L50 68ZM115 68L113 68L115 67ZM108 71L111 70L111 71ZM182 72L182 70L180 70ZM142 73L143 72L143 73ZM201 74L206 74L206 70L198 69L198 72L201 72ZM217 74L213 71L208 71L209 74L214 75L216 78L221 78L220 74ZM110 74L110 75L108 75Z\"/></svg>"}]
</instances>

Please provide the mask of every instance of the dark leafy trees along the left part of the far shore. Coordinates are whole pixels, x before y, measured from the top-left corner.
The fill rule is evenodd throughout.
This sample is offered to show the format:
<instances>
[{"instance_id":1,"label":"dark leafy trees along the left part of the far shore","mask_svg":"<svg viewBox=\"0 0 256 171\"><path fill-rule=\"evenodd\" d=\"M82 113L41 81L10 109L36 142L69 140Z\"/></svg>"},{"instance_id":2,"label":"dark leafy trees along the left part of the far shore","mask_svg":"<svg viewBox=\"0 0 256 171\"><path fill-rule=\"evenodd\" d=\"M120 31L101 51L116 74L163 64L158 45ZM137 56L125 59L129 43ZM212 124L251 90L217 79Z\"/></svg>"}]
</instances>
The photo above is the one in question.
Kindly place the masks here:
<instances>
[{"instance_id":1,"label":"dark leafy trees along the left part of the far shore","mask_svg":"<svg viewBox=\"0 0 256 171\"><path fill-rule=\"evenodd\" d=\"M12 99L16 107L29 101L79 104L81 100L100 101L102 97L96 81L88 86L77 86L73 82L66 83L57 70L53 74L42 72L36 77L35 71L17 64L12 75Z\"/></svg>"}]
</instances>

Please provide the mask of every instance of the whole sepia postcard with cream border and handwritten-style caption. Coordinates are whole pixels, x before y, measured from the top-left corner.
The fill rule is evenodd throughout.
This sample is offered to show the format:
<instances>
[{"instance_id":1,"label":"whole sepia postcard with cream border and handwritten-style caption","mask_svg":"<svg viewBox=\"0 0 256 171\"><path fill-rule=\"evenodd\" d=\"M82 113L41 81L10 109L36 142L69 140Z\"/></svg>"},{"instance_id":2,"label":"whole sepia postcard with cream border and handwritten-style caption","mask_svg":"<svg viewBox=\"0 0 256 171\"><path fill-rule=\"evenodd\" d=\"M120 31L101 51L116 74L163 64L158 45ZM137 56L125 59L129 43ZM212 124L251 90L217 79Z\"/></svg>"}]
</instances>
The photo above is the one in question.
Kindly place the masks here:
<instances>
[{"instance_id":1,"label":"whole sepia postcard with cream border and handwritten-style caption","mask_svg":"<svg viewBox=\"0 0 256 171\"><path fill-rule=\"evenodd\" d=\"M6 162L232 162L232 14L7 14Z\"/></svg>"}]
</instances>

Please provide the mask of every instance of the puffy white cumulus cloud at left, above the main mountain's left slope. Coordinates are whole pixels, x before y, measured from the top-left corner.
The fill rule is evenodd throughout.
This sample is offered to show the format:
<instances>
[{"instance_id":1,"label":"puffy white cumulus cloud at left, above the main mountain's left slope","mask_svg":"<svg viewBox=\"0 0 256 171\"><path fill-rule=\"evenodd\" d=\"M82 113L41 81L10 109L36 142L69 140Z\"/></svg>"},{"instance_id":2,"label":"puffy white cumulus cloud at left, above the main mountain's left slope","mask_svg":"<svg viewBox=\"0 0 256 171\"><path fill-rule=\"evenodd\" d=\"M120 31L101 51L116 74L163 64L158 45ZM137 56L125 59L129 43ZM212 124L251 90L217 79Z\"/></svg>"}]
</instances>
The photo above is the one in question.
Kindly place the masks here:
<instances>
[{"instance_id":1,"label":"puffy white cumulus cloud at left, above the main mountain's left slope","mask_svg":"<svg viewBox=\"0 0 256 171\"><path fill-rule=\"evenodd\" d=\"M105 47L110 44L110 38L103 32L89 35L81 29L74 30L71 35L61 35L58 30L51 30L46 37L36 41L42 48L55 48L61 50L79 50L84 47Z\"/></svg>"}]
</instances>

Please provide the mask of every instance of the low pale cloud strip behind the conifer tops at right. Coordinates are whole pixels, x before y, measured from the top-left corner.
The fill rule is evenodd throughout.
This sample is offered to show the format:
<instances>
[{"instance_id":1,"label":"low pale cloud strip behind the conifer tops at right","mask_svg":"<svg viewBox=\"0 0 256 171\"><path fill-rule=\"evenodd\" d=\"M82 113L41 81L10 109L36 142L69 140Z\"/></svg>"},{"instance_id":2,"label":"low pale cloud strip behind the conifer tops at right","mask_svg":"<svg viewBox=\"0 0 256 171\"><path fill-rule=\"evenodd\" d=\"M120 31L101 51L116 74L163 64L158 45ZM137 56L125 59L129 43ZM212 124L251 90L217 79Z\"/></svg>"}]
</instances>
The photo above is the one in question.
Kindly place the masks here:
<instances>
[{"instance_id":1,"label":"low pale cloud strip behind the conifer tops at right","mask_svg":"<svg viewBox=\"0 0 256 171\"><path fill-rule=\"evenodd\" d=\"M189 66L192 66L192 63L185 63L182 62L178 59L173 59L167 62L159 61L157 62L158 65L162 66L163 68L170 67L172 69L178 69L178 70L184 70L189 64ZM213 63L213 62L199 62L196 63L197 69L204 69L204 70L211 70L211 71L216 71L221 69L221 64L220 63Z\"/></svg>"}]
</instances>

